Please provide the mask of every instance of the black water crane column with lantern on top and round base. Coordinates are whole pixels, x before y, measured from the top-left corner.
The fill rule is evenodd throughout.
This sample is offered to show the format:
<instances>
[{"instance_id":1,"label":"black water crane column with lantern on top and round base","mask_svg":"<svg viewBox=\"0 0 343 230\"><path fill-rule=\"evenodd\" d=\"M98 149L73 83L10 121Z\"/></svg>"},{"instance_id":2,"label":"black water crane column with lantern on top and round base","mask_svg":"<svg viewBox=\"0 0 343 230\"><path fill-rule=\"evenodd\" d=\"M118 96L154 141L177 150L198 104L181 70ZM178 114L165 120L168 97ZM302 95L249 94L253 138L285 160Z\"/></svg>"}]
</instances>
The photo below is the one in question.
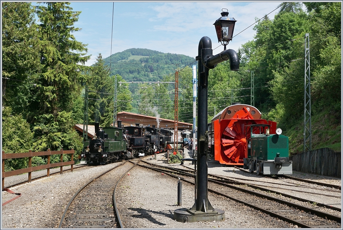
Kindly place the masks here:
<instances>
[{"instance_id":1,"label":"black water crane column with lantern on top and round base","mask_svg":"<svg viewBox=\"0 0 343 230\"><path fill-rule=\"evenodd\" d=\"M207 131L208 118L208 76L209 69L218 63L229 60L230 69L238 71L239 58L236 51L226 50L226 45L232 40L235 20L222 12L215 23L218 42L224 45L224 51L212 55L212 42L209 37L202 37L198 46L198 150L197 150L197 197L192 208L179 208L174 211L174 219L179 222L223 221L225 211L213 208L208 200L208 167L207 154L209 135ZM233 20L232 20L233 19Z\"/></svg>"}]
</instances>

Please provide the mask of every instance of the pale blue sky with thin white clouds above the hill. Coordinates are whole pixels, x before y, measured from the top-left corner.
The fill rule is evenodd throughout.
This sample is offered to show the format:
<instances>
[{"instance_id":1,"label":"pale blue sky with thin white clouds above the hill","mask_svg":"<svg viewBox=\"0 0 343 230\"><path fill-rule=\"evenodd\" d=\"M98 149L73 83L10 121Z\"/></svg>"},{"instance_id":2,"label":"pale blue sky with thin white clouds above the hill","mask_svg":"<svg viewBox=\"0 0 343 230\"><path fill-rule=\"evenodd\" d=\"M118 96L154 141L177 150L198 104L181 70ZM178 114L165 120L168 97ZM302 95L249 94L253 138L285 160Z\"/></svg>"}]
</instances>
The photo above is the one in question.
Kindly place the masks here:
<instances>
[{"instance_id":1,"label":"pale blue sky with thin white clouds above the hill","mask_svg":"<svg viewBox=\"0 0 343 230\"><path fill-rule=\"evenodd\" d=\"M222 9L237 21L234 36L275 10L277 1L153 1L153 2L71 2L73 11L82 11L75 27L76 40L88 44L91 60L96 62L98 53L103 58L130 48L146 48L164 53L198 55L199 41L208 36L212 49L220 46L213 23L221 17ZM280 8L279 8L280 9ZM279 9L268 15L273 19ZM113 12L113 35L112 31ZM253 40L253 26L244 30L229 42L227 49L238 50L241 44ZM112 43L112 46L111 46ZM224 50L220 46L213 55Z\"/></svg>"}]
</instances>

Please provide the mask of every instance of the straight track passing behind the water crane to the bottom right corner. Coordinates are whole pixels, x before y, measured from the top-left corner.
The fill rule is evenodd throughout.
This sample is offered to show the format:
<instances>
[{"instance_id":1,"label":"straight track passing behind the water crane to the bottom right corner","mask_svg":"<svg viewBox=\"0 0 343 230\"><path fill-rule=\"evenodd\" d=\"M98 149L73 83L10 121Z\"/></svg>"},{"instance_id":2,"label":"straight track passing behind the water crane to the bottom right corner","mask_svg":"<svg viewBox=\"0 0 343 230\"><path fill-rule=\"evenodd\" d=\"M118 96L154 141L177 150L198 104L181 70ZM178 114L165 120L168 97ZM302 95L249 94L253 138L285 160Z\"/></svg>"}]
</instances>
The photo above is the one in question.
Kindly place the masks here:
<instances>
[{"instance_id":1,"label":"straight track passing behind the water crane to the bottom right corner","mask_svg":"<svg viewBox=\"0 0 343 230\"><path fill-rule=\"evenodd\" d=\"M163 167L149 162L144 163L145 165L139 165L159 172L164 172L172 177L180 178L181 180L194 184L194 179L192 178L194 174L192 170ZM218 184L220 186L218 186ZM246 188L241 188L236 184L237 182L235 181L209 178L208 191L228 197L229 199L243 203L249 207L293 223L299 227L341 228L340 216L321 212L313 208L278 199L260 192L251 191ZM246 184L246 186L248 185Z\"/></svg>"}]
</instances>

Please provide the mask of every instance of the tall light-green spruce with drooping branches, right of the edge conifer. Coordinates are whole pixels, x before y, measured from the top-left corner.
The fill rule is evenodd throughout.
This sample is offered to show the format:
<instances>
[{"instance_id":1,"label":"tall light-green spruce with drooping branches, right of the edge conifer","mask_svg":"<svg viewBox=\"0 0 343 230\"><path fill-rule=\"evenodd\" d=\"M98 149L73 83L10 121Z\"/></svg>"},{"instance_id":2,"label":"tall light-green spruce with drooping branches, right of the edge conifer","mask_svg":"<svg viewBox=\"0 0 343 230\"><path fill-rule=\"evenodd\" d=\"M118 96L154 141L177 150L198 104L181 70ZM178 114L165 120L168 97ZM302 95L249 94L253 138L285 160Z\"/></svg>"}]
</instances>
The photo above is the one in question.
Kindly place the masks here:
<instances>
[{"instance_id":1,"label":"tall light-green spruce with drooping branches, right of the edge conifer","mask_svg":"<svg viewBox=\"0 0 343 230\"><path fill-rule=\"evenodd\" d=\"M39 24L40 50L40 84L41 100L37 107L45 114L58 111L70 111L72 101L79 96L82 74L86 71L85 62L90 59L86 44L76 41L72 35L80 28L74 27L80 11L72 11L68 2L47 2L47 6L37 6Z\"/></svg>"}]
</instances>

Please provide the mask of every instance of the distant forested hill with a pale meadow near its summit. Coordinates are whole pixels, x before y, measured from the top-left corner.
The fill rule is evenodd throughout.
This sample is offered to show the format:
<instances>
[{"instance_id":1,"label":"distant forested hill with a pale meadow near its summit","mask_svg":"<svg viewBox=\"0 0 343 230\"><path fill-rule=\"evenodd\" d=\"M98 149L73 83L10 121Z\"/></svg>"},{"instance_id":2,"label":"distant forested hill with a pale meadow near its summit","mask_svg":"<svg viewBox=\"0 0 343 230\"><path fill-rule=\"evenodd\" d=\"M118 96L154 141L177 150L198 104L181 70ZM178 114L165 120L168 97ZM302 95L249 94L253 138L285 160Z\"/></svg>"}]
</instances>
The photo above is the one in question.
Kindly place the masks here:
<instances>
[{"instance_id":1,"label":"distant forested hill with a pale meadow near its summit","mask_svg":"<svg viewBox=\"0 0 343 230\"><path fill-rule=\"evenodd\" d=\"M177 67L195 63L193 57L183 54L138 48L112 54L104 61L107 66L111 62L111 75L119 74L126 81L158 81L174 73Z\"/></svg>"}]
</instances>

